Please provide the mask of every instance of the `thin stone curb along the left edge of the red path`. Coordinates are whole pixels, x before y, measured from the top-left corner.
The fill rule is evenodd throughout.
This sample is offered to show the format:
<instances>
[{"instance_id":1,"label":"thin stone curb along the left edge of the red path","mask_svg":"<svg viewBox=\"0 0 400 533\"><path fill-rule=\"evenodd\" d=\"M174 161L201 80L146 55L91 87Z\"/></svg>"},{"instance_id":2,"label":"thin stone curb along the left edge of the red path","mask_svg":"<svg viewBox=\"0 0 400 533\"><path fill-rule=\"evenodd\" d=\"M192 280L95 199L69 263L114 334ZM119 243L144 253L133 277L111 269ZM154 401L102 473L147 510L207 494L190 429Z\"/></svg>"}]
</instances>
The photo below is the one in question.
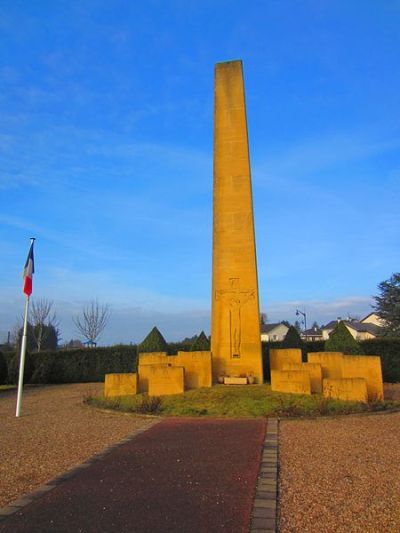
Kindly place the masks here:
<instances>
[{"instance_id":1,"label":"thin stone curb along the left edge of the red path","mask_svg":"<svg viewBox=\"0 0 400 533\"><path fill-rule=\"evenodd\" d=\"M19 497L17 500L11 502L6 507L0 508L0 522L3 522L9 516L20 511L23 507L26 507L33 501L41 498L44 494L46 494L50 490L53 490L55 487L57 487L61 483L64 483L64 481L67 481L68 479L71 479L72 477L76 476L77 474L79 474L79 472L81 472L85 468L88 468L90 465L96 463L97 461L100 461L101 459L103 459L103 457L111 453L113 450L133 440L135 437L137 437L137 435L140 435L140 433L147 431L148 429L152 428L154 425L155 424L153 424L152 426L148 428L137 429L136 431L134 431L127 437L124 437L118 442L107 446L101 452L95 453L92 457L89 457L89 459L86 459L86 461L83 461L83 463L73 466L72 468L64 472L63 474L60 474L54 479L51 479L46 484L38 487L34 491L29 492L28 494L25 494Z\"/></svg>"}]
</instances>

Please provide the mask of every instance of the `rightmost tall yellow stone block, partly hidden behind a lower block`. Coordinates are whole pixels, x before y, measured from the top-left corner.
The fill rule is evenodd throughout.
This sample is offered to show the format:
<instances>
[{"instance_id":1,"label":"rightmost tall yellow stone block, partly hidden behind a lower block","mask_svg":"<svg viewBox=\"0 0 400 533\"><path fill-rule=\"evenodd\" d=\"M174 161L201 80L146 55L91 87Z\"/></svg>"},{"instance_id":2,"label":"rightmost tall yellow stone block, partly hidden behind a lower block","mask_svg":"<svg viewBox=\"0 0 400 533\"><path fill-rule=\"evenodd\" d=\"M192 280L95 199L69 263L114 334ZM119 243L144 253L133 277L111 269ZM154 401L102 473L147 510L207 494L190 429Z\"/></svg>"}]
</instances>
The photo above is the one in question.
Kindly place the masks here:
<instances>
[{"instance_id":1,"label":"rightmost tall yellow stone block, partly hidden behind a lower block","mask_svg":"<svg viewBox=\"0 0 400 533\"><path fill-rule=\"evenodd\" d=\"M383 400L381 358L377 355L344 355L342 360L344 378L364 378L368 399Z\"/></svg>"}]
</instances>

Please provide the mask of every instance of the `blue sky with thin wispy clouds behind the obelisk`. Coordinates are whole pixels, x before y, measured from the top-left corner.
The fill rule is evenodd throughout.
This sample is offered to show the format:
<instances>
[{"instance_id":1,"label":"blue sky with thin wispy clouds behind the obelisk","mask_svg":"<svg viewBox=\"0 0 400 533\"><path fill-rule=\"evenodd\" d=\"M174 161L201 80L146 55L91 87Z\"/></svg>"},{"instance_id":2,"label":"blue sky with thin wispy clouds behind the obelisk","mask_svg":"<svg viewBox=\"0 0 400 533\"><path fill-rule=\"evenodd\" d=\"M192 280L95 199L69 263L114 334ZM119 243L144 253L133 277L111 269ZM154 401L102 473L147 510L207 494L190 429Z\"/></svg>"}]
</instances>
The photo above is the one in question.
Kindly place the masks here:
<instances>
[{"instance_id":1,"label":"blue sky with thin wispy clouds behind the obelisk","mask_svg":"<svg viewBox=\"0 0 400 533\"><path fill-rule=\"evenodd\" d=\"M261 308L371 310L400 263L400 2L0 0L0 337L210 330L214 64L244 63ZM0 338L0 340L2 340Z\"/></svg>"}]
</instances>

